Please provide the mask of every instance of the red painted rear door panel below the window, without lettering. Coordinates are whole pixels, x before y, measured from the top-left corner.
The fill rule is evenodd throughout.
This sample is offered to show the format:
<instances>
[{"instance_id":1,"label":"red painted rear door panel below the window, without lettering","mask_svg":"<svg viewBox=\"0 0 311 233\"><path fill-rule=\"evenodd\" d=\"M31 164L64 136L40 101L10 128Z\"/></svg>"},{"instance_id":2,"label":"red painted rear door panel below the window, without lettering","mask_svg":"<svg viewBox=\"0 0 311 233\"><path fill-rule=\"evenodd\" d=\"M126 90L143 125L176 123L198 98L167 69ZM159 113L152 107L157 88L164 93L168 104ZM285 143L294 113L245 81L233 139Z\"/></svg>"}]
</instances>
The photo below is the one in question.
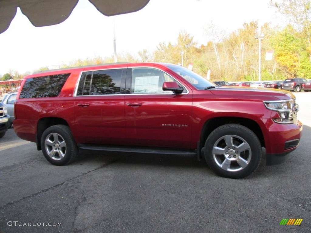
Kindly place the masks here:
<instances>
[{"instance_id":1,"label":"red painted rear door panel below the window, without lettering","mask_svg":"<svg viewBox=\"0 0 311 233\"><path fill-rule=\"evenodd\" d=\"M75 97L74 116L77 143L125 143L124 95Z\"/></svg>"}]
</instances>

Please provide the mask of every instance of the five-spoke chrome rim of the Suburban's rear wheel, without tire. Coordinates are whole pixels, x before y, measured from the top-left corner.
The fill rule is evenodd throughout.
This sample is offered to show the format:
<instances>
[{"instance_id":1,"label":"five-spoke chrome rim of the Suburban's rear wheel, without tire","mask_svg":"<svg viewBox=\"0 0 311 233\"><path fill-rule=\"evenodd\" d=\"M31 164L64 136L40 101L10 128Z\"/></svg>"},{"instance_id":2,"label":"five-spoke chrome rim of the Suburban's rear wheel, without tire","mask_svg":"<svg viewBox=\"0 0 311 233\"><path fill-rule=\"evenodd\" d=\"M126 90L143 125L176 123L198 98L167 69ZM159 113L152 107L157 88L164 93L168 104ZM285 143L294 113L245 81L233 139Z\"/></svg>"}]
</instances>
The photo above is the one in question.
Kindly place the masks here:
<instances>
[{"instance_id":1,"label":"five-spoke chrome rim of the Suburban's rear wheel, without tire","mask_svg":"<svg viewBox=\"0 0 311 233\"><path fill-rule=\"evenodd\" d=\"M57 133L49 134L44 140L44 148L49 157L53 160L61 160L66 154L66 142Z\"/></svg>"}]
</instances>

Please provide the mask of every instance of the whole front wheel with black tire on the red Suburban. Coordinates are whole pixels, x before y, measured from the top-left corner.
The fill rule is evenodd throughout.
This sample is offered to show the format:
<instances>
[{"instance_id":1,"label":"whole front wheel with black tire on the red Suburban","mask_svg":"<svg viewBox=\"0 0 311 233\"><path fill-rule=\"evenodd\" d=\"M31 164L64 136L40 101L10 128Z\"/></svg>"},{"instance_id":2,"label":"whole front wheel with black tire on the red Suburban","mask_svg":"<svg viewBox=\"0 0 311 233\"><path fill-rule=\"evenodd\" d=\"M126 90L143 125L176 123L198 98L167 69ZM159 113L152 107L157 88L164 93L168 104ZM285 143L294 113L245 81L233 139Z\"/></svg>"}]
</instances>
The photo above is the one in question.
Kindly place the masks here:
<instances>
[{"instance_id":1,"label":"whole front wheel with black tire on the red Suburban","mask_svg":"<svg viewBox=\"0 0 311 233\"><path fill-rule=\"evenodd\" d=\"M262 148L252 130L238 124L219 126L207 137L204 156L208 166L227 178L244 178L261 161Z\"/></svg>"}]
</instances>

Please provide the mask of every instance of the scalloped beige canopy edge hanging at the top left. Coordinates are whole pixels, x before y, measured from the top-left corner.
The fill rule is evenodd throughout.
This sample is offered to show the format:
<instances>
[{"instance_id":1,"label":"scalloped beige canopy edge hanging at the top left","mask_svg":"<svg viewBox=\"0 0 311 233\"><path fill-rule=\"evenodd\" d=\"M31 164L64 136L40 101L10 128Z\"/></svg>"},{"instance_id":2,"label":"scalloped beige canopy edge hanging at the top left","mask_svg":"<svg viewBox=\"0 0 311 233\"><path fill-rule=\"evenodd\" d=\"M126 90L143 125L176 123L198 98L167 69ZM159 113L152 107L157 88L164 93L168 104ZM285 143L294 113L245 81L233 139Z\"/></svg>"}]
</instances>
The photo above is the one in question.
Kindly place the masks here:
<instances>
[{"instance_id":1,"label":"scalloped beige canopy edge hanging at the top left","mask_svg":"<svg viewBox=\"0 0 311 233\"><path fill-rule=\"evenodd\" d=\"M0 0L0 34L8 29L17 7L36 27L59 24L65 21L79 0ZM89 0L105 16L138 11L149 0Z\"/></svg>"}]
</instances>

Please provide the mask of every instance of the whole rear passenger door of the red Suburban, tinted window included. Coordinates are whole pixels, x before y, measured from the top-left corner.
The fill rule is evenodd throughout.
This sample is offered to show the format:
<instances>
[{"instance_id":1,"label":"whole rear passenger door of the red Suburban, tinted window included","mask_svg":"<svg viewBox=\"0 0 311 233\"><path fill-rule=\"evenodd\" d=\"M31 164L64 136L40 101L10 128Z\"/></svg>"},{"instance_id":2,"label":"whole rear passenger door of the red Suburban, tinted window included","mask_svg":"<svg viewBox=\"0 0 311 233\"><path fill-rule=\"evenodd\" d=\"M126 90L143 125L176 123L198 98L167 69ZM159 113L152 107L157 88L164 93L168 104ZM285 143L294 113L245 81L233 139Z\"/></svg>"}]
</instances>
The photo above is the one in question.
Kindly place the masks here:
<instances>
[{"instance_id":1,"label":"whole rear passenger door of the red Suburban, tinted window included","mask_svg":"<svg viewBox=\"0 0 311 233\"><path fill-rule=\"evenodd\" d=\"M74 104L77 143L123 144L126 69L82 72Z\"/></svg>"}]
</instances>

